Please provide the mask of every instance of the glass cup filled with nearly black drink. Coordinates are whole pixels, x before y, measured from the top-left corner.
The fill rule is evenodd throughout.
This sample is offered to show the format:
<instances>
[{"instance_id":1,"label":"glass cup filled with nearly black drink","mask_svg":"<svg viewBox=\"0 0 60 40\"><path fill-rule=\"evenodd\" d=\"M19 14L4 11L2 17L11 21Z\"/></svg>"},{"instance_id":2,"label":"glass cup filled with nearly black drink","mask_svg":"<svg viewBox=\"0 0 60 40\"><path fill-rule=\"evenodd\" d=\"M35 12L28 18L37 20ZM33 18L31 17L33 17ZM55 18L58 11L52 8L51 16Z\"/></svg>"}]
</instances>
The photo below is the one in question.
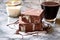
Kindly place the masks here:
<instances>
[{"instance_id":1,"label":"glass cup filled with nearly black drink","mask_svg":"<svg viewBox=\"0 0 60 40\"><path fill-rule=\"evenodd\" d=\"M41 4L44 9L44 18L46 21L55 21L59 10L59 3L47 1Z\"/></svg>"}]
</instances>

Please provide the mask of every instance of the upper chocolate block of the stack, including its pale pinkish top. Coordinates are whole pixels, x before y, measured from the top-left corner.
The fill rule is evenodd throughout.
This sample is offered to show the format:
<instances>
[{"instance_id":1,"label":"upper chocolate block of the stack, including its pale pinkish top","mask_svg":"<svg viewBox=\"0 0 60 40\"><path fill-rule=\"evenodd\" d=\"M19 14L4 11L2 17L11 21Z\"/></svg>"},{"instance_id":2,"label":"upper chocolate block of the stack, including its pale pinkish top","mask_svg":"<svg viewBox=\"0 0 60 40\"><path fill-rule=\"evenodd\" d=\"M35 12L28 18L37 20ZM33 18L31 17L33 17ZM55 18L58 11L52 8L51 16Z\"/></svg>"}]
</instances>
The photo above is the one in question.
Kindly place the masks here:
<instances>
[{"instance_id":1,"label":"upper chocolate block of the stack, including its pale pinkish top","mask_svg":"<svg viewBox=\"0 0 60 40\"><path fill-rule=\"evenodd\" d=\"M26 12L22 12L22 21L26 23L39 23L43 18L43 10L38 9L30 9ZM28 19L27 19L28 18Z\"/></svg>"}]
</instances>

